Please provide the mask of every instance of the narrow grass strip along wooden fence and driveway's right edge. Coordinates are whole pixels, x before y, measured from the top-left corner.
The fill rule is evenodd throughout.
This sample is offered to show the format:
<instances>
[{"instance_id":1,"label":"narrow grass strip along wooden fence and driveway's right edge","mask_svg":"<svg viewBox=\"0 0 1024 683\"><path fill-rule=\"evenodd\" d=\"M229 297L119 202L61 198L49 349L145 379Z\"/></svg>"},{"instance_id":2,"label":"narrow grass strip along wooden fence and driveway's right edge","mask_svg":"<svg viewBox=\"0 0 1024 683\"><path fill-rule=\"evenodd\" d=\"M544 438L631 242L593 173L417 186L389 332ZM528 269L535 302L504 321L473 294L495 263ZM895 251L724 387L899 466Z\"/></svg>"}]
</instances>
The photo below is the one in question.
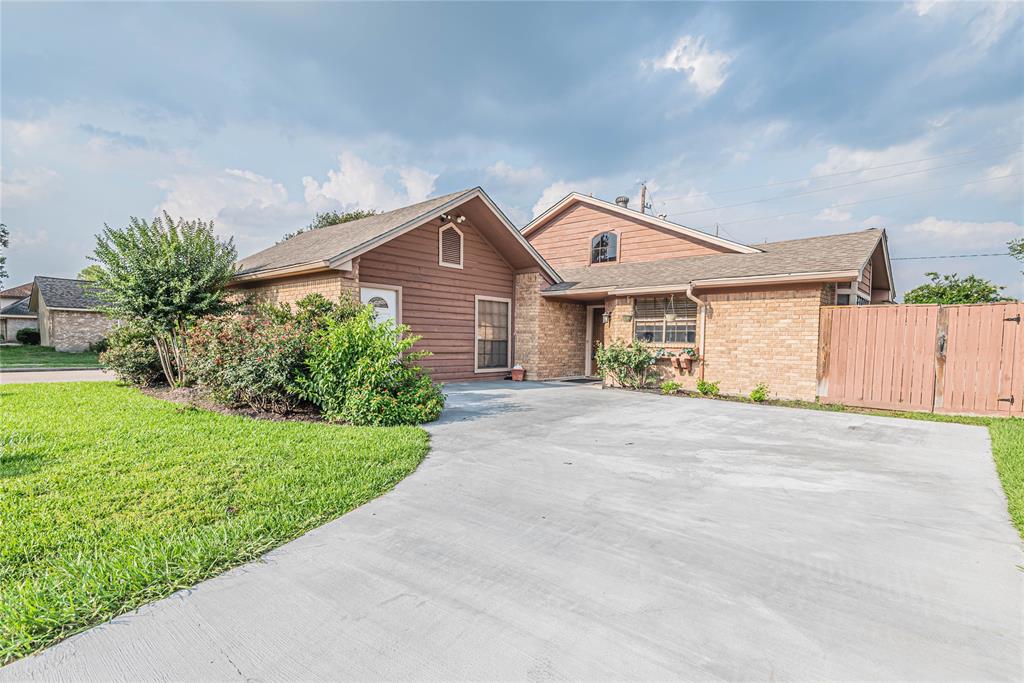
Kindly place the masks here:
<instances>
[{"instance_id":1,"label":"narrow grass strip along wooden fence and driveway's right edge","mask_svg":"<svg viewBox=\"0 0 1024 683\"><path fill-rule=\"evenodd\" d=\"M687 396L702 397L694 392L685 392ZM754 403L745 396L715 396L718 400L731 400L741 403ZM954 422L964 425L979 425L988 427L988 435L992 441L992 459L995 461L995 471L1007 494L1007 507L1010 518L1017 527L1017 532L1024 541L1024 419L992 418L967 415L940 415L935 413L909 413L902 411L880 411L868 408L853 408L836 403L818 403L805 400L765 400L759 401L765 405L781 405L783 408L803 408L812 411L830 413L858 413L861 415L877 415L884 418L904 418L907 420L925 420L929 422Z\"/></svg>"}]
</instances>

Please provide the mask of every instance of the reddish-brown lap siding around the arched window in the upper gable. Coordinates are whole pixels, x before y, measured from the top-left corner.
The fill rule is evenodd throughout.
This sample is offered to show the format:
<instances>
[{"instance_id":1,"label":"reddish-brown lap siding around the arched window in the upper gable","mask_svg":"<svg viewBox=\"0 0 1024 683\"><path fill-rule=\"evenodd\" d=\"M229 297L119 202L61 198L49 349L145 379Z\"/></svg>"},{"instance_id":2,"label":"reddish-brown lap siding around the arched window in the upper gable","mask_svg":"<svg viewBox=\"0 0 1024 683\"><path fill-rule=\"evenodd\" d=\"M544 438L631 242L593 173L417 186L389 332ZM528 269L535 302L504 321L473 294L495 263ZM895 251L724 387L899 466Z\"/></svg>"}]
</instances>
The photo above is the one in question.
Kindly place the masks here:
<instances>
[{"instance_id":1,"label":"reddish-brown lap siding around the arched window in the upper gable","mask_svg":"<svg viewBox=\"0 0 1024 683\"><path fill-rule=\"evenodd\" d=\"M555 269L579 267L590 264L591 240L605 230L618 236L618 263L729 252L725 248L585 204L577 204L554 217L550 223L530 234L529 242Z\"/></svg>"}]
</instances>

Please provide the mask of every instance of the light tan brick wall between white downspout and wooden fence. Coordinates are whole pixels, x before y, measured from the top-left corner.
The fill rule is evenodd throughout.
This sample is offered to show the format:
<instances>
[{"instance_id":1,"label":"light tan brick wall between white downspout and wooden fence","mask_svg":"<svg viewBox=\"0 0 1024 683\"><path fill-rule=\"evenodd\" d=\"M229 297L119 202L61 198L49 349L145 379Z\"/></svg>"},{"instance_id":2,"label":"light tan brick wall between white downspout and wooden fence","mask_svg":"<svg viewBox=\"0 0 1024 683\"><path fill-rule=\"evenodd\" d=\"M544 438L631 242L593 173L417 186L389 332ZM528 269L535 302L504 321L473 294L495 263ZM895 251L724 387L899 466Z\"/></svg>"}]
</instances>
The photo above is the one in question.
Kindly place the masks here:
<instances>
[{"instance_id":1,"label":"light tan brick wall between white downspout and wooden fence","mask_svg":"<svg viewBox=\"0 0 1024 683\"><path fill-rule=\"evenodd\" d=\"M759 382L772 397L814 400L818 310L827 287L701 294L707 301L705 379L723 393L746 394Z\"/></svg>"}]
</instances>

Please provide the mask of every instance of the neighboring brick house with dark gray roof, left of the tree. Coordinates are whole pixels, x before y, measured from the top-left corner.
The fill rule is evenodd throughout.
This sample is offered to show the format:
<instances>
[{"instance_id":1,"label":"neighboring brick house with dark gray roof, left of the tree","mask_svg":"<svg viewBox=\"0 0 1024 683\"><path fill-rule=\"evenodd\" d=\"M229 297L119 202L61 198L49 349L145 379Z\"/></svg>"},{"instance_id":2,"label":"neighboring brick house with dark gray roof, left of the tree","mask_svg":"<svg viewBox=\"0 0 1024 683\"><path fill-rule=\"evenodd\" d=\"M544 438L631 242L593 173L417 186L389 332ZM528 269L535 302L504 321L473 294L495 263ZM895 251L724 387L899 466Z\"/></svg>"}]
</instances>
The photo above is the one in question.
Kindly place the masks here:
<instances>
[{"instance_id":1,"label":"neighboring brick house with dark gray roof, left of the tree","mask_svg":"<svg viewBox=\"0 0 1024 683\"><path fill-rule=\"evenodd\" d=\"M84 351L106 336L113 321L102 313L102 301L87 285L84 280L36 276L29 309L39 315L43 346Z\"/></svg>"}]
</instances>

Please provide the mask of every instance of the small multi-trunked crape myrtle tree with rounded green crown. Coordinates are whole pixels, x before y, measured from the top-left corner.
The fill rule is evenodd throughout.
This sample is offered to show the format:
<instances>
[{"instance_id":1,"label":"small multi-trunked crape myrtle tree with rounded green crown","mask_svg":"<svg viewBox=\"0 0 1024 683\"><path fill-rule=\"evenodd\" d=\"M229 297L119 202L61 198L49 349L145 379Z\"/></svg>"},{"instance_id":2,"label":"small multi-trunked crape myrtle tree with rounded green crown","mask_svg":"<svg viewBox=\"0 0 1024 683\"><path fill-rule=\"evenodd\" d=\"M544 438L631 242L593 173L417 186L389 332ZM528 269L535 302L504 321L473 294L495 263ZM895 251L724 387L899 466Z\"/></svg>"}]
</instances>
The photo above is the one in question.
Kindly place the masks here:
<instances>
[{"instance_id":1,"label":"small multi-trunked crape myrtle tree with rounded green crown","mask_svg":"<svg viewBox=\"0 0 1024 683\"><path fill-rule=\"evenodd\" d=\"M225 287L237 256L212 221L175 221L166 211L148 223L132 216L127 227L104 224L96 236L90 259L101 268L90 287L109 315L153 335L168 384L185 386L186 333L198 318L230 309Z\"/></svg>"}]
</instances>

